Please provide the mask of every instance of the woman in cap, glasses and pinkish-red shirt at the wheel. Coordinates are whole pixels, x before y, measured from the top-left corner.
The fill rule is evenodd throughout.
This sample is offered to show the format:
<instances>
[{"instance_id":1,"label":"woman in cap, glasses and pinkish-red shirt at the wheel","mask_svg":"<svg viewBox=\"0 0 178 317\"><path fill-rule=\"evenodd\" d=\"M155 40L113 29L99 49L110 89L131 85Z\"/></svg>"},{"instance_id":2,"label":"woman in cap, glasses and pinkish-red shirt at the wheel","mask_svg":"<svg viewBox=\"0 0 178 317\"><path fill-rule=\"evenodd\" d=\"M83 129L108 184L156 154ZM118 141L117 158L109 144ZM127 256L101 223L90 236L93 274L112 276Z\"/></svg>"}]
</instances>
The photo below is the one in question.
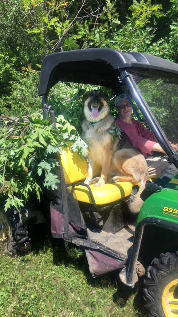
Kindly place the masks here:
<instances>
[{"instance_id":1,"label":"woman in cap, glasses and pinkish-red shirt at the wheel","mask_svg":"<svg viewBox=\"0 0 178 317\"><path fill-rule=\"evenodd\" d=\"M145 156L150 177L158 178L163 171L170 175L178 174L177 168L173 164L170 165L166 159L167 157L163 155L165 152L156 141L152 132L146 130L140 122L131 119L132 107L125 94L115 98L115 107L119 113L115 124L125 132L131 144ZM170 144L174 151L177 152L178 143L173 144L170 142ZM154 155L154 152L160 152L160 155L158 153Z\"/></svg>"}]
</instances>

